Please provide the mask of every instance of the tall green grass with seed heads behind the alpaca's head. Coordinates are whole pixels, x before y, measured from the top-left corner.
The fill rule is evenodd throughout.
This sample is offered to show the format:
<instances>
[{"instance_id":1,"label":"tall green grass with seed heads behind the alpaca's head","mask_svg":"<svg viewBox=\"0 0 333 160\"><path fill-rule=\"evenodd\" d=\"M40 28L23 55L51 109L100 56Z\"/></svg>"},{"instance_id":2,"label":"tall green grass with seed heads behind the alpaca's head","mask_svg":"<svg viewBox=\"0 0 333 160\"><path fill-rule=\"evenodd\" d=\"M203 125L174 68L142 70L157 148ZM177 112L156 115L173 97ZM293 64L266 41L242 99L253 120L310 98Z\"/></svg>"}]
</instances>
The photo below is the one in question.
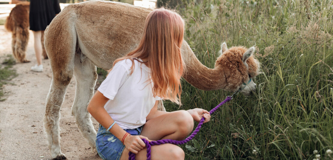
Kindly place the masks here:
<instances>
[{"instance_id":1,"label":"tall green grass with seed heads behind the alpaca's head","mask_svg":"<svg viewBox=\"0 0 333 160\"><path fill-rule=\"evenodd\" d=\"M332 159L332 0L182 0L175 9L202 64L213 68L225 41L256 46L262 72L255 95L235 96L181 146L185 159L313 159L314 150ZM231 94L182 86L185 110L210 110Z\"/></svg>"}]
</instances>

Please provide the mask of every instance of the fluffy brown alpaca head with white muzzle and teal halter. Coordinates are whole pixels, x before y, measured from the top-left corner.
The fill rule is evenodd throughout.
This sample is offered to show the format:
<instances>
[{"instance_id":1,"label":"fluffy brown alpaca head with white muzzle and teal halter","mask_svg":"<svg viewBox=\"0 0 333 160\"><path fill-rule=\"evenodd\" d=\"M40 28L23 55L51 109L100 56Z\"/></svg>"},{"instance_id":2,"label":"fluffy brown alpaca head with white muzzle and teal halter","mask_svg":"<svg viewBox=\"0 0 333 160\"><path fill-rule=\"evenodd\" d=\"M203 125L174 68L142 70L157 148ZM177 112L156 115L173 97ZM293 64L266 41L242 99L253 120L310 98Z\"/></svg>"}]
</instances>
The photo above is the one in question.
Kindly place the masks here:
<instances>
[{"instance_id":1,"label":"fluffy brown alpaca head with white muzzle and teal halter","mask_svg":"<svg viewBox=\"0 0 333 160\"><path fill-rule=\"evenodd\" d=\"M224 90L235 92L241 89L241 93L249 96L255 91L256 84L253 79L260 73L259 62L252 56L255 48L231 47L227 48L222 43L220 56L215 62L215 68L223 70L226 86Z\"/></svg>"}]
</instances>

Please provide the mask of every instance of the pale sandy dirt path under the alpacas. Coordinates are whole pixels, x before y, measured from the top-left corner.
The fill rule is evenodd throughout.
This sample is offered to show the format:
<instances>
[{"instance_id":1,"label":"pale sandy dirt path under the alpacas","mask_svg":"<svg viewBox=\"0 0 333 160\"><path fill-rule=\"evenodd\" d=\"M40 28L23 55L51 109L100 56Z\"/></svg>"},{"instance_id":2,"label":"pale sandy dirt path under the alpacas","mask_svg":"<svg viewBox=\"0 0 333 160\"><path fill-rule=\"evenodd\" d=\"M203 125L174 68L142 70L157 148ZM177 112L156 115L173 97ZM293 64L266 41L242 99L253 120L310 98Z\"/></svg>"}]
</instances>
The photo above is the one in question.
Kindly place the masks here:
<instances>
[{"instance_id":1,"label":"pale sandy dirt path under the alpacas","mask_svg":"<svg viewBox=\"0 0 333 160\"><path fill-rule=\"evenodd\" d=\"M11 33L0 25L0 62L5 55L12 54ZM33 47L33 34L27 48L30 63L14 65L18 76L4 86L7 100L0 102L0 160L2 159L50 159L50 150L43 129L45 100L52 74L48 60L43 60L44 72L30 71L36 64ZM0 64L1 65L1 64ZM67 88L61 108L60 136L61 150L68 159L100 159L90 150L86 139L79 131L71 105L75 95L75 80ZM98 123L93 119L95 129Z\"/></svg>"}]
</instances>

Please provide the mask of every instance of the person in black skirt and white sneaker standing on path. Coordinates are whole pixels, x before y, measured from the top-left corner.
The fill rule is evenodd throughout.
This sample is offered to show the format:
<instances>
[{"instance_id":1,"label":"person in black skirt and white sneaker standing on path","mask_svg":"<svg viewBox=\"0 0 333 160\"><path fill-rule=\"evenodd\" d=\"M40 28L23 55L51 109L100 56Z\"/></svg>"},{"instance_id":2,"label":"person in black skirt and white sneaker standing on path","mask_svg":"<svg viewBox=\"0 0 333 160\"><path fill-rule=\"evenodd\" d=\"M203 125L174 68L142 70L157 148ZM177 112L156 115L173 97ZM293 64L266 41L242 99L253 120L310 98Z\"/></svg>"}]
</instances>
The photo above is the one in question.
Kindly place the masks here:
<instances>
[{"instance_id":1,"label":"person in black skirt and white sneaker standing on path","mask_svg":"<svg viewBox=\"0 0 333 160\"><path fill-rule=\"evenodd\" d=\"M29 23L34 33L34 48L37 64L31 67L32 71L42 72L42 44L44 31L52 19L60 12L58 0L30 0Z\"/></svg>"}]
</instances>

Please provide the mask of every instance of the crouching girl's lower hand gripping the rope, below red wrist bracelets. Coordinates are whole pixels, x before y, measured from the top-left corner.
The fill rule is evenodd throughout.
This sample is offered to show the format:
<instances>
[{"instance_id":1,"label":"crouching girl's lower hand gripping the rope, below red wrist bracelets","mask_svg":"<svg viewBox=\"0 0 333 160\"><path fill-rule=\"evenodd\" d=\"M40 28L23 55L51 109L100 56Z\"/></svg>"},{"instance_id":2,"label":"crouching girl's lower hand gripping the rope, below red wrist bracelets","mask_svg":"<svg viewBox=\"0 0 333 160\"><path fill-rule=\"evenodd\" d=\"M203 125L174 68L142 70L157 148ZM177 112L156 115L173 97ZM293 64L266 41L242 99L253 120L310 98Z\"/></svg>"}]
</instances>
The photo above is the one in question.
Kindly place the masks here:
<instances>
[{"instance_id":1,"label":"crouching girl's lower hand gripping the rope, below red wrist bracelets","mask_svg":"<svg viewBox=\"0 0 333 160\"><path fill-rule=\"evenodd\" d=\"M146 147L145 142L142 140L142 138L145 138L146 140L148 140L149 142L151 142L151 140L149 140L147 137L145 136L132 136L132 135L128 135L125 140L124 140L124 145L125 147L132 153L137 154L139 151L141 151L142 149L144 149Z\"/></svg>"}]
</instances>

